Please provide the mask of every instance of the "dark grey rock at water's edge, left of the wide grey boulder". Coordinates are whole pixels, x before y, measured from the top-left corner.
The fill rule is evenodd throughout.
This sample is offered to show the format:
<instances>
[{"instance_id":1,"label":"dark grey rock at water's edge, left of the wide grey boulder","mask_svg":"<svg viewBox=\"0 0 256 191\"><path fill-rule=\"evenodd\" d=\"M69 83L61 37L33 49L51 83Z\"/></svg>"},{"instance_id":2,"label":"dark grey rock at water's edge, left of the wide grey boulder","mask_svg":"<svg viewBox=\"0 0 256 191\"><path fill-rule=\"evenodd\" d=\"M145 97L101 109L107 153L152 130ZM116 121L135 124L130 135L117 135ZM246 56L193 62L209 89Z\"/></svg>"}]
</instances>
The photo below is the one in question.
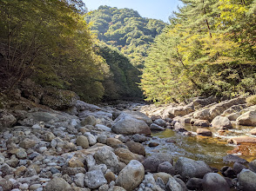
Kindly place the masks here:
<instances>
[{"instance_id":1,"label":"dark grey rock at water's edge, left of the wide grey boulder","mask_svg":"<svg viewBox=\"0 0 256 191\"><path fill-rule=\"evenodd\" d=\"M169 161L171 164L173 163L172 157L166 154L151 155L147 157L142 163L146 172L156 173L158 171L158 165L164 161Z\"/></svg>"}]
</instances>

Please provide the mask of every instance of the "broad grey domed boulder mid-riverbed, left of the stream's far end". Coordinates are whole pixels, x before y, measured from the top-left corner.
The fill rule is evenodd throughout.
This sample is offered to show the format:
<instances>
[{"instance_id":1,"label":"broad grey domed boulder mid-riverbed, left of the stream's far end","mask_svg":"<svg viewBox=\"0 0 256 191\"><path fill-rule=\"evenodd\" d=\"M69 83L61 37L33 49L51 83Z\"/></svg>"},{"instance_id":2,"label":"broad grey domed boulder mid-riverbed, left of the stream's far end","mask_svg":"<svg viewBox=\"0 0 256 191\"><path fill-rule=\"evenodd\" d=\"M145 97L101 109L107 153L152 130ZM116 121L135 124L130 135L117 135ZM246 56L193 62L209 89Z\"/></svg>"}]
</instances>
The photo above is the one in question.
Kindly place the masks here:
<instances>
[{"instance_id":1,"label":"broad grey domed boulder mid-riverbed, left of the stream's far end","mask_svg":"<svg viewBox=\"0 0 256 191\"><path fill-rule=\"evenodd\" d=\"M114 121L112 131L123 135L151 135L151 129L144 121L138 120L132 115L125 114L119 115L118 118Z\"/></svg>"}]
</instances>

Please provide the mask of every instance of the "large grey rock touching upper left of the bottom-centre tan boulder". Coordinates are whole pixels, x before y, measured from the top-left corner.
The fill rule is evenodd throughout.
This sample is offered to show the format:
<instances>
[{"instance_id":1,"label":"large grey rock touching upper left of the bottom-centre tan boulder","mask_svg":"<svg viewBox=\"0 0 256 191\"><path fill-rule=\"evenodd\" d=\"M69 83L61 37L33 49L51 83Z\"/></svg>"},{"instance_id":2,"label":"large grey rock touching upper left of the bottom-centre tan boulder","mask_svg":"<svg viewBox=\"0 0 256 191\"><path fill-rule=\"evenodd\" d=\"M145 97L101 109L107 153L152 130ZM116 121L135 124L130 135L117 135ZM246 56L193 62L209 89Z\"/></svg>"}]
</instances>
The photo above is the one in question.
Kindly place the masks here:
<instances>
[{"instance_id":1,"label":"large grey rock touching upper left of the bottom-centre tan boulder","mask_svg":"<svg viewBox=\"0 0 256 191\"><path fill-rule=\"evenodd\" d=\"M95 160L98 163L103 163L110 168L112 172L117 173L119 168L119 161L117 155L115 155L108 148L100 148L94 155Z\"/></svg>"}]
</instances>

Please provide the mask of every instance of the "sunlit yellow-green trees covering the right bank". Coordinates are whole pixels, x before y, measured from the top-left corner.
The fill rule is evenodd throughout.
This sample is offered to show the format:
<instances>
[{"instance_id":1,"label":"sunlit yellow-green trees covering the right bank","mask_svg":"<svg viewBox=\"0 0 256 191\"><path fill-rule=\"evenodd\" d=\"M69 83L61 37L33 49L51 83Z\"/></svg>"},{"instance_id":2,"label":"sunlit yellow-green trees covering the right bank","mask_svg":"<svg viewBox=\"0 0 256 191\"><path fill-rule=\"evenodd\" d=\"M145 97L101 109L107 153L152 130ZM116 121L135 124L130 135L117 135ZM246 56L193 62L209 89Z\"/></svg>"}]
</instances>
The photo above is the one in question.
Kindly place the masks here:
<instances>
[{"instance_id":1,"label":"sunlit yellow-green trees covering the right bank","mask_svg":"<svg viewBox=\"0 0 256 191\"><path fill-rule=\"evenodd\" d=\"M181 0L146 58L147 100L256 93L256 1Z\"/></svg>"}]
</instances>

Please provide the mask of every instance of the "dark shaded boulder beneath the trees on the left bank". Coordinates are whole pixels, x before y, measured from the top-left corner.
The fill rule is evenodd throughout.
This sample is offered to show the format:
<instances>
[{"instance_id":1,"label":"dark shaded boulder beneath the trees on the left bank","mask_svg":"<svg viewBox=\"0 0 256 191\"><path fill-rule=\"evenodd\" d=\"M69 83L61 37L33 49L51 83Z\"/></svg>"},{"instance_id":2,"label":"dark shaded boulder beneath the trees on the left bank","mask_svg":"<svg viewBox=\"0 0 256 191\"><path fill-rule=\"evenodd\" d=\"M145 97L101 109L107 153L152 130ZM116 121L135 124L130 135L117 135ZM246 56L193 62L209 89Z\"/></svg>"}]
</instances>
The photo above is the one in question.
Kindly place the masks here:
<instances>
[{"instance_id":1,"label":"dark shaded boulder beneath the trees on the left bank","mask_svg":"<svg viewBox=\"0 0 256 191\"><path fill-rule=\"evenodd\" d=\"M78 95L73 91L47 89L42 96L42 104L52 109L68 109L76 104L78 98Z\"/></svg>"}]
</instances>

